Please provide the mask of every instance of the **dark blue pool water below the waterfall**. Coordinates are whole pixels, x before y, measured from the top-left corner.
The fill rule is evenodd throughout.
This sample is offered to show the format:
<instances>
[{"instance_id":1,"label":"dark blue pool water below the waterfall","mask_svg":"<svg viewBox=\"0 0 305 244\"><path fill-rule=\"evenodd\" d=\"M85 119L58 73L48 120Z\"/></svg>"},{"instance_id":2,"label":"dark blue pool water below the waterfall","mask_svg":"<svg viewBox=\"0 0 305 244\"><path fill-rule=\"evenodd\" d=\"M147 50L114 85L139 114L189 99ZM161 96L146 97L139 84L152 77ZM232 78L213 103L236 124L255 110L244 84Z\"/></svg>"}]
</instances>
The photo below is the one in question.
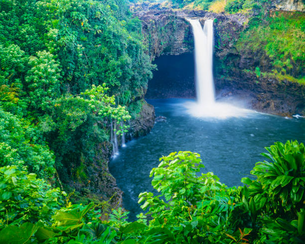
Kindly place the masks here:
<instances>
[{"instance_id":1,"label":"dark blue pool water below the waterfall","mask_svg":"<svg viewBox=\"0 0 305 244\"><path fill-rule=\"evenodd\" d=\"M265 146L289 139L305 142L305 119L255 112L225 120L194 118L183 106L190 101L148 100L156 116L166 117L166 122L156 122L150 134L128 142L109 164L124 191L123 204L131 212L131 220L142 211L137 203L139 193L153 191L149 174L162 155L179 150L197 152L204 172L214 172L228 186L239 186L255 163L264 160L260 153Z\"/></svg>"}]
</instances>

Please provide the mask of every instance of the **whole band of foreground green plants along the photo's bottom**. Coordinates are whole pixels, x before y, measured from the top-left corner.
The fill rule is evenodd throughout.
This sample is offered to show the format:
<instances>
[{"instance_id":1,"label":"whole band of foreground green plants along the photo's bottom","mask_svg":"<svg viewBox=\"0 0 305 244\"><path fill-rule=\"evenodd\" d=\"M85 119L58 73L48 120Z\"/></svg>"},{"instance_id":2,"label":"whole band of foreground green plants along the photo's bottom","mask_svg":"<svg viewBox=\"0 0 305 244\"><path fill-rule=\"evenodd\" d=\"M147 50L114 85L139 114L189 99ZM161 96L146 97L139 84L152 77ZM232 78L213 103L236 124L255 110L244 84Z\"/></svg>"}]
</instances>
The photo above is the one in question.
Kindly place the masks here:
<instances>
[{"instance_id":1,"label":"whole band of foreground green plants along the photo's bottom","mask_svg":"<svg viewBox=\"0 0 305 244\"><path fill-rule=\"evenodd\" d=\"M17 166L0 168L0 243L304 243L305 146L276 142L251 178L229 188L201 173L190 151L160 158L151 192L139 195L145 214L128 222L106 202L74 205Z\"/></svg>"}]
</instances>

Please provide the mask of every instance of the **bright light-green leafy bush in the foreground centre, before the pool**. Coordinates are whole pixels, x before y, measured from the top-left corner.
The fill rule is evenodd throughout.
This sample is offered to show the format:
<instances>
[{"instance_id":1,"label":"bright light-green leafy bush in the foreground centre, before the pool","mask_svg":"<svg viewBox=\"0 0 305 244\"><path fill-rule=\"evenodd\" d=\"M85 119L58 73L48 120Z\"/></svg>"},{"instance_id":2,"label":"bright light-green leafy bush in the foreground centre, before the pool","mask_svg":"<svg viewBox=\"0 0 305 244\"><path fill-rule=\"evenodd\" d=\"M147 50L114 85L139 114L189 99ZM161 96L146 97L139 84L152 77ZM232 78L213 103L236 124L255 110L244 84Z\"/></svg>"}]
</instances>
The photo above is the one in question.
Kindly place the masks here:
<instances>
[{"instance_id":1,"label":"bright light-green leafy bush in the foreground centre, before the pool","mask_svg":"<svg viewBox=\"0 0 305 244\"><path fill-rule=\"evenodd\" d=\"M150 227L167 228L175 243L228 240L225 234L233 234L239 223L234 217L241 207L235 203L236 188L227 188L213 173L198 177L203 165L197 153L174 152L160 161L151 176L152 186L161 194L139 195L139 203L145 201L141 208L149 208L152 215Z\"/></svg>"}]
</instances>

